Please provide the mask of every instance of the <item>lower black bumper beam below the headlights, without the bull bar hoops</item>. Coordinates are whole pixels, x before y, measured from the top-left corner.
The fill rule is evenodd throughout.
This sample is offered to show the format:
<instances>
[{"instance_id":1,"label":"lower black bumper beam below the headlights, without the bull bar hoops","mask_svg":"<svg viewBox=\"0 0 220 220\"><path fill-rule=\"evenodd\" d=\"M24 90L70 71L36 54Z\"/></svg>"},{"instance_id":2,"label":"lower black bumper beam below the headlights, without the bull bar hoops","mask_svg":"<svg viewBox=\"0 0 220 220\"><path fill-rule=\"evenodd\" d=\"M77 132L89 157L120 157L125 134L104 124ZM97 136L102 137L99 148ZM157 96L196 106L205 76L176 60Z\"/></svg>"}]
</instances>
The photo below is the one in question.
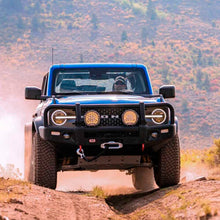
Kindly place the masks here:
<instances>
[{"instance_id":1,"label":"lower black bumper beam below the headlights, without the bull bar hoops","mask_svg":"<svg viewBox=\"0 0 220 220\"><path fill-rule=\"evenodd\" d=\"M176 134L176 124L139 127L39 127L42 139L58 144L75 146L101 146L102 143L115 141L123 145L158 145Z\"/></svg>"}]
</instances>

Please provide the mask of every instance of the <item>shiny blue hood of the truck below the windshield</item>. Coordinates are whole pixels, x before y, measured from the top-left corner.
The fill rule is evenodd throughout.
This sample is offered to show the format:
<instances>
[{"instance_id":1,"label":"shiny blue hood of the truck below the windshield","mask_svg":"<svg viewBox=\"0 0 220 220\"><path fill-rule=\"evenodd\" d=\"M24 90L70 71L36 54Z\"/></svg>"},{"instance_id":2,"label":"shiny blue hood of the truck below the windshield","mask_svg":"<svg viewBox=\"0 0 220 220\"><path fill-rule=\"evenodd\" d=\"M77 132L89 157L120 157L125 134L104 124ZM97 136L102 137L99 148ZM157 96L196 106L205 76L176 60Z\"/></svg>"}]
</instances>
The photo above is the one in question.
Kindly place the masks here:
<instances>
[{"instance_id":1,"label":"shiny blue hood of the truck below the windshield","mask_svg":"<svg viewBox=\"0 0 220 220\"><path fill-rule=\"evenodd\" d=\"M97 104L138 104L161 102L159 97L143 97L137 95L75 95L56 98L56 104L97 105Z\"/></svg>"}]
</instances>

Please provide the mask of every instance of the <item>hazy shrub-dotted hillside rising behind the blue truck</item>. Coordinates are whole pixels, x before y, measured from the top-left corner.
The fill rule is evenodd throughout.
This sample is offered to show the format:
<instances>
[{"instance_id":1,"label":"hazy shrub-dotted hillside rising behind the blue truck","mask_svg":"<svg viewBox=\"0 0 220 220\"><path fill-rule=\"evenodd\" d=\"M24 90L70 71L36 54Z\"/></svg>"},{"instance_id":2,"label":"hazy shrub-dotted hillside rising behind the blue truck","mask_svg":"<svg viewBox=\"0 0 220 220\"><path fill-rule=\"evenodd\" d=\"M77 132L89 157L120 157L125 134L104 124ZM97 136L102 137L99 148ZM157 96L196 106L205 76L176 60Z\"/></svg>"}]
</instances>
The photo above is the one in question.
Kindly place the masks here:
<instances>
[{"instance_id":1,"label":"hazy shrub-dotted hillside rising behind the blue truck","mask_svg":"<svg viewBox=\"0 0 220 220\"><path fill-rule=\"evenodd\" d=\"M176 85L183 148L219 137L219 1L0 0L0 10L1 99L40 86L52 48L53 63L144 63L155 93Z\"/></svg>"}]
</instances>

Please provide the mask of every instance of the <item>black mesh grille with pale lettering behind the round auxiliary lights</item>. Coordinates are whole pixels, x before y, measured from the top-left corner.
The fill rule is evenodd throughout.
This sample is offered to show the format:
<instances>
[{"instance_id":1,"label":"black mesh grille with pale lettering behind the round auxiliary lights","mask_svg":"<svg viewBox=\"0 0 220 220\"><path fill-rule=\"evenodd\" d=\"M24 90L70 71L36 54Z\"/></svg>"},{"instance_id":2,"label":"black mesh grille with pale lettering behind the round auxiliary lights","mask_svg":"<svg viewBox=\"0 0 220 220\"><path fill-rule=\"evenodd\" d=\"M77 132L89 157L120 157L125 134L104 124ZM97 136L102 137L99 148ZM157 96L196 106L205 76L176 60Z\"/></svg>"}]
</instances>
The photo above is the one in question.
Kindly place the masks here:
<instances>
[{"instance_id":1,"label":"black mesh grille with pale lettering behind the round auxiliary lights","mask_svg":"<svg viewBox=\"0 0 220 220\"><path fill-rule=\"evenodd\" d=\"M81 115L82 118L85 115L85 113L89 110L95 110L100 114L100 124L98 126L126 126L123 124L121 116L124 113L124 111L132 109L137 112L137 114L140 116L140 109L139 106L123 106L123 107L81 107ZM138 122L134 126L138 126L140 121L140 117L138 119ZM82 120L82 126L86 126L84 121ZM130 127L134 127L130 126ZM87 126L86 126L87 127ZM127 126L126 126L127 127Z\"/></svg>"}]
</instances>

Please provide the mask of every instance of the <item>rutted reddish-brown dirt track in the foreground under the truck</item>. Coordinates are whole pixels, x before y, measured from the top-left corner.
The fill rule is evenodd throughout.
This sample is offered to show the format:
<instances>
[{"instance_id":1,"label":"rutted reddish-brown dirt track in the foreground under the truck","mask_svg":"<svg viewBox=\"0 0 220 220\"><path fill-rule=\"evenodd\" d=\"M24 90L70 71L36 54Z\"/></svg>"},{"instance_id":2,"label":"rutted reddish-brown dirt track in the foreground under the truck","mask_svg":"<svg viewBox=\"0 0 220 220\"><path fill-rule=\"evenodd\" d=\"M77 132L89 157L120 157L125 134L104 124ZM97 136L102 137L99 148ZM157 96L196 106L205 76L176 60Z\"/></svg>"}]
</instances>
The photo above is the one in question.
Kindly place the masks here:
<instances>
[{"instance_id":1,"label":"rutted reddish-brown dirt track in the foreground under the truck","mask_svg":"<svg viewBox=\"0 0 220 220\"><path fill-rule=\"evenodd\" d=\"M106 198L0 179L0 220L220 219L220 181L200 180Z\"/></svg>"}]
</instances>

